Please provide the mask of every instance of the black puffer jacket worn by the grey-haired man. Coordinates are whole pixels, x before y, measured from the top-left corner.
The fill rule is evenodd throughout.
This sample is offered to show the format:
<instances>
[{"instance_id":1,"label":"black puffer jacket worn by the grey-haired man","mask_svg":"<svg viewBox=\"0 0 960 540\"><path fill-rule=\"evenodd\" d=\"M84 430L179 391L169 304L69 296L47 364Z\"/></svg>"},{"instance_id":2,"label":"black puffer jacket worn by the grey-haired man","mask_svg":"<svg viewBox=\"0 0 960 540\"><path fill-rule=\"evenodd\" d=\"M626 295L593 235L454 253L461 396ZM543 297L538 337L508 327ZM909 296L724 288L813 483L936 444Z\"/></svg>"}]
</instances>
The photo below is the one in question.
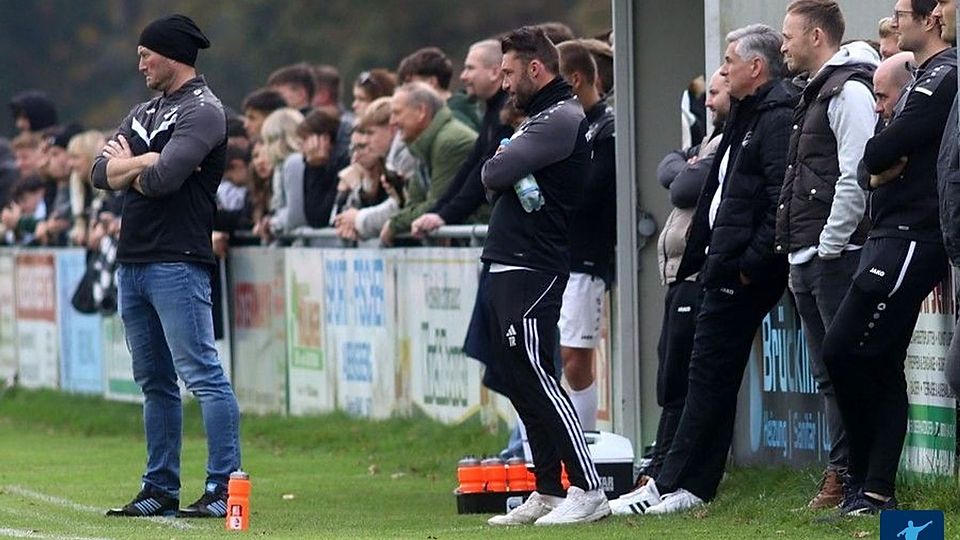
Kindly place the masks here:
<instances>
[{"instance_id":1,"label":"black puffer jacket worn by the grey-haired man","mask_svg":"<svg viewBox=\"0 0 960 540\"><path fill-rule=\"evenodd\" d=\"M778 79L751 96L731 100L730 118L697 202L678 280L702 265L704 287L739 287L740 273L758 281L786 268L786 258L774 253L773 237L797 93L792 84ZM720 165L728 149L722 198L711 229L710 203L720 186Z\"/></svg>"}]
</instances>

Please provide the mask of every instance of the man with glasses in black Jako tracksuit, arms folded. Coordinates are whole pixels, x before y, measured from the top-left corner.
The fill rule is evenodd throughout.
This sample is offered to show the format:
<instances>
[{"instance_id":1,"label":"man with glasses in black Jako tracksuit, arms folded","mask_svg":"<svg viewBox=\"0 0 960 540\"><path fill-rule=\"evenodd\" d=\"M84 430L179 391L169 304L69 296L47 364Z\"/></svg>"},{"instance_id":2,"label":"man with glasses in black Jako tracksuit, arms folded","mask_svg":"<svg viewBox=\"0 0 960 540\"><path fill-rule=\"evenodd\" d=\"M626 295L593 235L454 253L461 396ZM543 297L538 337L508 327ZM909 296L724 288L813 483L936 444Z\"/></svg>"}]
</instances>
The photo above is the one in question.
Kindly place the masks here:
<instances>
[{"instance_id":1,"label":"man with glasses in black Jako tracksuit, arms folded","mask_svg":"<svg viewBox=\"0 0 960 540\"><path fill-rule=\"evenodd\" d=\"M823 343L849 440L844 515L897 507L897 467L907 427L904 360L923 299L945 276L938 219L937 154L957 92L956 50L940 35L936 0L898 0L900 48L919 66L893 120L864 150L861 179L873 229ZM855 491L854 491L855 490Z\"/></svg>"}]
</instances>

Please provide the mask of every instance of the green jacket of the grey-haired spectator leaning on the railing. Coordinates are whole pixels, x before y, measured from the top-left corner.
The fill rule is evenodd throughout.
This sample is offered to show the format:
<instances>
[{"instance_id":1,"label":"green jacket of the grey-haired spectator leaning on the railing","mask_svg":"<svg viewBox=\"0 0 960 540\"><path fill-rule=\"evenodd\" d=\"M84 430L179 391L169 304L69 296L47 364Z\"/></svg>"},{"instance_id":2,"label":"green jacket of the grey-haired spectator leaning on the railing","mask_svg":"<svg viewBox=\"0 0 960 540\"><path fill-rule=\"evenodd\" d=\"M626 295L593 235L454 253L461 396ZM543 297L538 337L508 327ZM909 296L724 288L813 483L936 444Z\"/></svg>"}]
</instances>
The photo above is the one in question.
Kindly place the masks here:
<instances>
[{"instance_id":1,"label":"green jacket of the grey-haired spectator leaning on the railing","mask_svg":"<svg viewBox=\"0 0 960 540\"><path fill-rule=\"evenodd\" d=\"M413 220L437 204L473 150L476 138L477 133L455 119L448 107L437 111L427 129L409 145L410 153L420 160L420 169L407 183L406 204L390 218L394 234L410 232Z\"/></svg>"}]
</instances>

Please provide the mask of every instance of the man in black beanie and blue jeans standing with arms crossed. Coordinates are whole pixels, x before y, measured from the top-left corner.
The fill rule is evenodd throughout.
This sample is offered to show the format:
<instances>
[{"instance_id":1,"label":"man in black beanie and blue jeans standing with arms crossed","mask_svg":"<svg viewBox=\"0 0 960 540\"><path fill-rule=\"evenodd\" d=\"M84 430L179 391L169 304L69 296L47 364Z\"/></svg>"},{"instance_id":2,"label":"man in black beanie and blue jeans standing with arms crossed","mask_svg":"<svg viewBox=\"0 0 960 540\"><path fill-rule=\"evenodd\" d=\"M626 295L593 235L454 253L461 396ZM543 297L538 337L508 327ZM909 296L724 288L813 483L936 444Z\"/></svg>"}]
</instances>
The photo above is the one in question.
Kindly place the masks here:
<instances>
[{"instance_id":1,"label":"man in black beanie and blue jeans standing with arms crossed","mask_svg":"<svg viewBox=\"0 0 960 540\"><path fill-rule=\"evenodd\" d=\"M93 165L94 185L125 192L120 315L143 390L147 439L140 493L107 515L225 516L227 481L240 467L240 412L217 357L211 308L210 239L226 118L193 67L197 50L209 46L183 15L144 28L139 69L163 95L135 106ZM209 455L204 493L183 510L178 376L200 402Z\"/></svg>"}]
</instances>

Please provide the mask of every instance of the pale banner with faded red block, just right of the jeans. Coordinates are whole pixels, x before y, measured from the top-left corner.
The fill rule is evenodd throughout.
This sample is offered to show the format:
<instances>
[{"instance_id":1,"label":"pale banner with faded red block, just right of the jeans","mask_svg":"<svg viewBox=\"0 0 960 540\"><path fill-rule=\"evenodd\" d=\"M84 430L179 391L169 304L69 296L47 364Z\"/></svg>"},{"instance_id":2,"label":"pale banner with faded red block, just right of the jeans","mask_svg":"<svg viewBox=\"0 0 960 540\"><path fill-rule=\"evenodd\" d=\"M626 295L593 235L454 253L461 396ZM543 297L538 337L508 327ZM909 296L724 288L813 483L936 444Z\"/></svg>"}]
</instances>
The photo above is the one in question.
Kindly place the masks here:
<instances>
[{"instance_id":1,"label":"pale banner with faded red block, just right of the jeans","mask_svg":"<svg viewBox=\"0 0 960 540\"><path fill-rule=\"evenodd\" d=\"M230 251L233 388L243 412L287 412L284 261L275 248Z\"/></svg>"}]
</instances>

